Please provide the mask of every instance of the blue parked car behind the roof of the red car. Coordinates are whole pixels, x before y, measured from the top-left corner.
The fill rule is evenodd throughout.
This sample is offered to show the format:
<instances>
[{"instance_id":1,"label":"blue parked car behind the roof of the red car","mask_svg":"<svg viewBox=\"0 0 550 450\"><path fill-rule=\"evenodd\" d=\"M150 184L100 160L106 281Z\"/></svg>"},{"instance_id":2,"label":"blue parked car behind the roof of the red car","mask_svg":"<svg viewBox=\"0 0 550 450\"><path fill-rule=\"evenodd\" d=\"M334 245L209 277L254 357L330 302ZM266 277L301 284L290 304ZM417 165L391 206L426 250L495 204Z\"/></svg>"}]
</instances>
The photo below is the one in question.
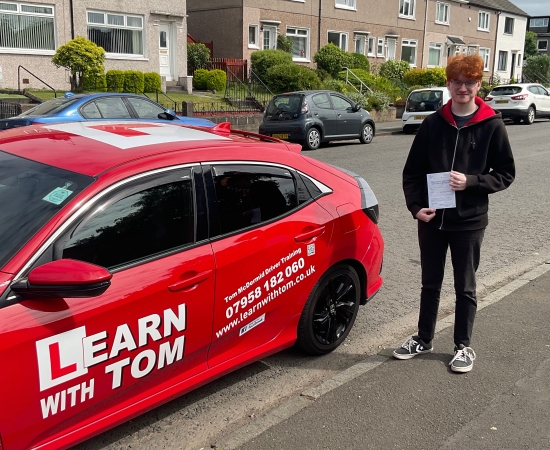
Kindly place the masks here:
<instances>
[{"instance_id":1,"label":"blue parked car behind the roof of the red car","mask_svg":"<svg viewBox=\"0 0 550 450\"><path fill-rule=\"evenodd\" d=\"M0 120L0 130L39 123L81 122L86 120L128 119L171 122L195 127L213 127L214 122L176 113L147 97L134 94L73 94L40 103L9 119Z\"/></svg>"}]
</instances>

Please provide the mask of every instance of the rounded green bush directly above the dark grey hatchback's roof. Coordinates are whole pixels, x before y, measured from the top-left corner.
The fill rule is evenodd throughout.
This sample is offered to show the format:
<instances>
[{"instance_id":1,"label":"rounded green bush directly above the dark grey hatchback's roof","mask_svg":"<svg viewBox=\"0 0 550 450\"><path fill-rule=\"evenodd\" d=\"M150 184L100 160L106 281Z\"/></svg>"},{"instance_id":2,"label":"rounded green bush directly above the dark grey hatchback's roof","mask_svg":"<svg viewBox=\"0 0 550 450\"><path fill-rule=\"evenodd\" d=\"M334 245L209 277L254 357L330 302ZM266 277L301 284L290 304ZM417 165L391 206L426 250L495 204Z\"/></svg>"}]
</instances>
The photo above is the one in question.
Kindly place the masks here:
<instances>
[{"instance_id":1,"label":"rounded green bush directly above the dark grey hatchback's roof","mask_svg":"<svg viewBox=\"0 0 550 450\"><path fill-rule=\"evenodd\" d=\"M321 80L314 70L296 64L279 64L267 71L269 88L276 93L320 89Z\"/></svg>"}]
</instances>

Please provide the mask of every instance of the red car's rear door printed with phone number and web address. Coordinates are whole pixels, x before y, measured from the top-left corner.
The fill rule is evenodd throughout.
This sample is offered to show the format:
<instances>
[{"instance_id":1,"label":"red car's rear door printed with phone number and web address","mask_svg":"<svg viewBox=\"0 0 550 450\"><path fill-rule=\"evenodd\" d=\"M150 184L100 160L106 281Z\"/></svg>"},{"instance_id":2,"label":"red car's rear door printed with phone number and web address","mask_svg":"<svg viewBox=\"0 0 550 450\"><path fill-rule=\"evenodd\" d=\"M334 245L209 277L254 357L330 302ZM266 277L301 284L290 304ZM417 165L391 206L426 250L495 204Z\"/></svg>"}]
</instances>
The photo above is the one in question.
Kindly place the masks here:
<instances>
[{"instance_id":1,"label":"red car's rear door printed with phone number and web address","mask_svg":"<svg viewBox=\"0 0 550 450\"><path fill-rule=\"evenodd\" d=\"M208 365L213 367L246 360L247 352L287 326L296 332L333 223L301 176L286 167L224 163L212 165L210 173L209 204L219 219L219 229L212 229L216 293Z\"/></svg>"}]
</instances>

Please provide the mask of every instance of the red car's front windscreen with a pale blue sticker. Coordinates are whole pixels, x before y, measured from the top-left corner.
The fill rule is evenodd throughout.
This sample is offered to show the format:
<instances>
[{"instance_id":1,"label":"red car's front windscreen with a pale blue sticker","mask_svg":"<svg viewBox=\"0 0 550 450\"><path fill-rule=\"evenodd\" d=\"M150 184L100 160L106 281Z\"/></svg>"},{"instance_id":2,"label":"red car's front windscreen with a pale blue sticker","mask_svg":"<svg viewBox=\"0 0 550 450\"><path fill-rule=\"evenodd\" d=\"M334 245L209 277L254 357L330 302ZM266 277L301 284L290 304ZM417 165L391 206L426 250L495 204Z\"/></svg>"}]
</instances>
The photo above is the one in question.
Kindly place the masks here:
<instances>
[{"instance_id":1,"label":"red car's front windscreen with a pale blue sticker","mask_svg":"<svg viewBox=\"0 0 550 450\"><path fill-rule=\"evenodd\" d=\"M93 181L0 150L0 269Z\"/></svg>"}]
</instances>

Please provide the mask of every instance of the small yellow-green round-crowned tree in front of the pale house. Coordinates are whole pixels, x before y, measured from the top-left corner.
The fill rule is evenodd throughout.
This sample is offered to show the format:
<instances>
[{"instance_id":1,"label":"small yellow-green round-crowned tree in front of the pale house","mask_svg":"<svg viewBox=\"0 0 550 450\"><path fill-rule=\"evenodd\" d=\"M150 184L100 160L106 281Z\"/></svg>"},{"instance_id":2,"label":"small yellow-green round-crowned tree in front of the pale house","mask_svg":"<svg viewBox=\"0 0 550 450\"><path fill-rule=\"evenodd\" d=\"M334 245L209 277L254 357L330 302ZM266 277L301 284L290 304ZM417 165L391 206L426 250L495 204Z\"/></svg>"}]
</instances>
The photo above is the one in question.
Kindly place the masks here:
<instances>
[{"instance_id":1,"label":"small yellow-green round-crowned tree in front of the pale house","mask_svg":"<svg viewBox=\"0 0 550 450\"><path fill-rule=\"evenodd\" d=\"M71 72L71 90L82 89L86 74L99 75L105 72L105 50L83 36L77 36L57 49L52 62Z\"/></svg>"}]
</instances>

